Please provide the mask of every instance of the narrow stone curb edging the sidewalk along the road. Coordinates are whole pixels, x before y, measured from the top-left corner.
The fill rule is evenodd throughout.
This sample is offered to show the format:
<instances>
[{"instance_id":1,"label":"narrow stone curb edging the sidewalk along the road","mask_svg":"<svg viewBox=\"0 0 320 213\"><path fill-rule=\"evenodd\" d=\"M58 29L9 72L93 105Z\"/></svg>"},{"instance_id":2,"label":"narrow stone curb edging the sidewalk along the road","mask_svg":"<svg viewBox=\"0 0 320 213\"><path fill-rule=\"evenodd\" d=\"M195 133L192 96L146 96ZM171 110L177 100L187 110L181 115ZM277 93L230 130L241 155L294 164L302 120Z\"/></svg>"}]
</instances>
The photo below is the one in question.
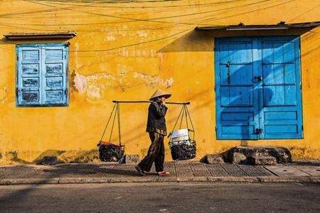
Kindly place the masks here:
<instances>
[{"instance_id":1,"label":"narrow stone curb edging the sidewalk along the road","mask_svg":"<svg viewBox=\"0 0 320 213\"><path fill-rule=\"evenodd\" d=\"M135 177L135 178L21 178L0 180L0 185L85 184L107 182L296 182L320 184L320 176L313 177Z\"/></svg>"}]
</instances>

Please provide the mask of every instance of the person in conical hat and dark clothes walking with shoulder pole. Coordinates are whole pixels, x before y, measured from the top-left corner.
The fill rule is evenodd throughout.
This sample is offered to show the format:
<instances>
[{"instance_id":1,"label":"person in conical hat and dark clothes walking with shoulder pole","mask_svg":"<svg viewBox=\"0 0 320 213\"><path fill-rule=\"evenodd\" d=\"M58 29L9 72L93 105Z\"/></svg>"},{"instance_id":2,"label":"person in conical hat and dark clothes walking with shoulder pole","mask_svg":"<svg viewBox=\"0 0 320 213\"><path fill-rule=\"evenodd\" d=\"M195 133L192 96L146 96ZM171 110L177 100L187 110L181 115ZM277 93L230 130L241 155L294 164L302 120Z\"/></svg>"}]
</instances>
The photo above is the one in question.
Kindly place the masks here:
<instances>
[{"instance_id":1,"label":"person in conical hat and dark clothes walking with shoulder pole","mask_svg":"<svg viewBox=\"0 0 320 213\"><path fill-rule=\"evenodd\" d=\"M142 176L151 170L154 163L156 173L160 176L169 175L169 172L164 170L164 136L166 136L166 99L171 97L171 94L157 89L149 99L151 104L148 109L148 120L146 123L146 132L149 133L151 145L144 159L136 165L136 170Z\"/></svg>"}]
</instances>

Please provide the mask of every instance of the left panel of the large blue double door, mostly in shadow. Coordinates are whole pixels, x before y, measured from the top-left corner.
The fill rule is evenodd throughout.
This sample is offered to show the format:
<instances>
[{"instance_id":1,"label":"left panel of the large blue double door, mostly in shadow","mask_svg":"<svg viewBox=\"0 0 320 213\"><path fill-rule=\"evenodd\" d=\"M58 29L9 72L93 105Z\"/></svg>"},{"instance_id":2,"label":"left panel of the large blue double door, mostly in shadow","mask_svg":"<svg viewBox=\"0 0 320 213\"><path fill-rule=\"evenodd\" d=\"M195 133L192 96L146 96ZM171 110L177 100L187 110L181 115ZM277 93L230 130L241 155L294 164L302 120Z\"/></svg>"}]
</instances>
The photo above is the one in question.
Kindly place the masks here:
<instances>
[{"instance_id":1,"label":"left panel of the large blue double door, mostly in shadow","mask_svg":"<svg viewBox=\"0 0 320 213\"><path fill-rule=\"evenodd\" d=\"M253 43L251 39L220 40L217 48L215 77L218 137L223 139L257 138L255 107ZM218 57L217 57L218 56Z\"/></svg>"}]
</instances>

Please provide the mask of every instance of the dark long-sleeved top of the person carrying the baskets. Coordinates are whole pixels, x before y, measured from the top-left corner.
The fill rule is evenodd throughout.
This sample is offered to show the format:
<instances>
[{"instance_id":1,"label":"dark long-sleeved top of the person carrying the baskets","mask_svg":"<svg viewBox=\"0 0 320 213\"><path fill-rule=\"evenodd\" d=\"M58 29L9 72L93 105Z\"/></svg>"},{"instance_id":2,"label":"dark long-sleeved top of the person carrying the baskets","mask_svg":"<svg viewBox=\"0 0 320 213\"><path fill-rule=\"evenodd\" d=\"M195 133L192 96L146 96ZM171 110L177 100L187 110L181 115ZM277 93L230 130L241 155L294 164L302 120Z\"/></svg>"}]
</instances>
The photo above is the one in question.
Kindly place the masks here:
<instances>
[{"instance_id":1,"label":"dark long-sleeved top of the person carrying the baskets","mask_svg":"<svg viewBox=\"0 0 320 213\"><path fill-rule=\"evenodd\" d=\"M148 121L146 123L146 131L160 133L166 136L166 106L160 106L157 102L151 102L148 109Z\"/></svg>"}]
</instances>

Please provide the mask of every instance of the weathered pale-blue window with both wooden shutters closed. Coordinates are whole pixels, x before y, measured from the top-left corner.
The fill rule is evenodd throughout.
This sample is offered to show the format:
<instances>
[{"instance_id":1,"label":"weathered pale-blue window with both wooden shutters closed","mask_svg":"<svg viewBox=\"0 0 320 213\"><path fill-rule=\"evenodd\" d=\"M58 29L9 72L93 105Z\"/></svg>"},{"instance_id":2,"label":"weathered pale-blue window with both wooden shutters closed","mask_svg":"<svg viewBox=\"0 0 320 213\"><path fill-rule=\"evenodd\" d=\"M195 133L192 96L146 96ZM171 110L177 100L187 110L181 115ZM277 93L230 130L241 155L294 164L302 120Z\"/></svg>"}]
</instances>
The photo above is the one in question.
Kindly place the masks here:
<instances>
[{"instance_id":1,"label":"weathered pale-blue window with both wooden shutters closed","mask_svg":"<svg viewBox=\"0 0 320 213\"><path fill-rule=\"evenodd\" d=\"M18 45L16 104L21 107L68 105L68 45Z\"/></svg>"}]
</instances>

